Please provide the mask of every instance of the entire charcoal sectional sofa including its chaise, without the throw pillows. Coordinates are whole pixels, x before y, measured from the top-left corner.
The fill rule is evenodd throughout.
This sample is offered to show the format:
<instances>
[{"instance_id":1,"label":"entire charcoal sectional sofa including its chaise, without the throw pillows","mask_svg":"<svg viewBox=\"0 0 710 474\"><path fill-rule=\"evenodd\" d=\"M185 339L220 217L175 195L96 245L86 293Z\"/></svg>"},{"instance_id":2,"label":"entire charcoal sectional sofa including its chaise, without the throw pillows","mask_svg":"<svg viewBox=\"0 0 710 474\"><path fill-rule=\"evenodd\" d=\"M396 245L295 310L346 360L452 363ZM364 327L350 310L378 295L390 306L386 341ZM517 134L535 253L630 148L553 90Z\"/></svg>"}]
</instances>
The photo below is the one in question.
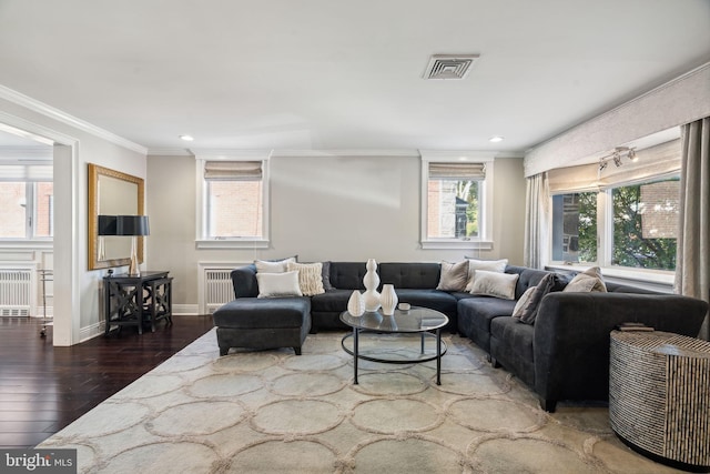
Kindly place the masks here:
<instances>
[{"instance_id":1,"label":"entire charcoal sectional sofa including its chaise, without the throw pillows","mask_svg":"<svg viewBox=\"0 0 710 474\"><path fill-rule=\"evenodd\" d=\"M284 299L257 299L256 268L234 269L236 299L214 313L220 352L293 346L300 353L308 331L348 329L339 314L353 290L364 291L365 262L328 262L324 268L325 293ZM511 317L516 301L436 290L438 263L379 263L377 272L381 284L394 284L400 302L446 314L450 331L469 337L494 365L519 377L549 412L561 400L608 400L609 333L617 324L640 322L694 337L708 311L700 300L613 283L607 283L607 293L562 292L567 279L556 274L531 325ZM518 300L550 272L508 265L506 273L519 275ZM275 321L272 327L261 327L268 321Z\"/></svg>"}]
</instances>

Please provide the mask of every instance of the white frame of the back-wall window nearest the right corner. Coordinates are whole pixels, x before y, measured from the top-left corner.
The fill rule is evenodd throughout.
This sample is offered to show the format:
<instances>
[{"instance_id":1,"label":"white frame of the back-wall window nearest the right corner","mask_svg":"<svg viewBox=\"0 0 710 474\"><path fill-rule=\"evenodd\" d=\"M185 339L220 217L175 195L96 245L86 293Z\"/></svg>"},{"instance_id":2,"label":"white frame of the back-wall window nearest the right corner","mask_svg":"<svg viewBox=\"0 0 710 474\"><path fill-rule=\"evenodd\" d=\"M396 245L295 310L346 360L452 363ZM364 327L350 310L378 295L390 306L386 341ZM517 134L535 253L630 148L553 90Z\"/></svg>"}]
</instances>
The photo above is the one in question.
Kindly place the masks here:
<instances>
[{"instance_id":1,"label":"white frame of the back-wall window nearest the right corner","mask_svg":"<svg viewBox=\"0 0 710 474\"><path fill-rule=\"evenodd\" d=\"M491 250L493 240L493 196L495 155L475 151L434 151L422 150L420 175L420 235L423 250L429 249L474 249ZM486 178L479 182L478 236L476 238L435 238L428 236L428 182L429 163L485 163Z\"/></svg>"}]
</instances>

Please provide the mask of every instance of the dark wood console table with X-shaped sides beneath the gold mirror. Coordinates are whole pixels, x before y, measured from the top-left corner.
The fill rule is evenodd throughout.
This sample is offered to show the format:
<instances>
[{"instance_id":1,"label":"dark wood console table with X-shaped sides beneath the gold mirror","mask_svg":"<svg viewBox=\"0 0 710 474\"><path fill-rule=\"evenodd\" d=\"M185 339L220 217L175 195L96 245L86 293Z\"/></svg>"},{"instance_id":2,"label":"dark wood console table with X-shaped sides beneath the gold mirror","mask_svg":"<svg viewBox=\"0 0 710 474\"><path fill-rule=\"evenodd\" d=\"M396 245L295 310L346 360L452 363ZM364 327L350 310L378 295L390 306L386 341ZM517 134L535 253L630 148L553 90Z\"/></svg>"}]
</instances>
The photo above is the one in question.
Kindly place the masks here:
<instances>
[{"instance_id":1,"label":"dark wood console table with X-shaped sides beneath the gold mirror","mask_svg":"<svg viewBox=\"0 0 710 474\"><path fill-rule=\"evenodd\" d=\"M172 281L169 272L143 272L140 276L109 275L103 278L105 334L112 326L143 324L155 331L155 322L172 324Z\"/></svg>"}]
</instances>

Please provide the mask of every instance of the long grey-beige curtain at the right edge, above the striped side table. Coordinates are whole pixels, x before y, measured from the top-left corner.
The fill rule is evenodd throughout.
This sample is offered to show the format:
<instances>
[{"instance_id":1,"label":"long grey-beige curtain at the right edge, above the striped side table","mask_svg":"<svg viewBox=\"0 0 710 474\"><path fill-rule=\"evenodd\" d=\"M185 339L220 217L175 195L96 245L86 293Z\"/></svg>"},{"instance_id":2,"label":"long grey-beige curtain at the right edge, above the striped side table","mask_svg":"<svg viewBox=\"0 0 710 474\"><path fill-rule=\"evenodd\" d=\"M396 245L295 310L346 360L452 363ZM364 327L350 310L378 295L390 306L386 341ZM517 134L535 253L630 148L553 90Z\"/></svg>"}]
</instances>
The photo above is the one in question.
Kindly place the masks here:
<instances>
[{"instance_id":1,"label":"long grey-beige curtain at the right edge, above the striped side table","mask_svg":"<svg viewBox=\"0 0 710 474\"><path fill-rule=\"evenodd\" d=\"M682 127L676 292L710 299L710 117ZM708 316L699 337L710 341Z\"/></svg>"}]
</instances>

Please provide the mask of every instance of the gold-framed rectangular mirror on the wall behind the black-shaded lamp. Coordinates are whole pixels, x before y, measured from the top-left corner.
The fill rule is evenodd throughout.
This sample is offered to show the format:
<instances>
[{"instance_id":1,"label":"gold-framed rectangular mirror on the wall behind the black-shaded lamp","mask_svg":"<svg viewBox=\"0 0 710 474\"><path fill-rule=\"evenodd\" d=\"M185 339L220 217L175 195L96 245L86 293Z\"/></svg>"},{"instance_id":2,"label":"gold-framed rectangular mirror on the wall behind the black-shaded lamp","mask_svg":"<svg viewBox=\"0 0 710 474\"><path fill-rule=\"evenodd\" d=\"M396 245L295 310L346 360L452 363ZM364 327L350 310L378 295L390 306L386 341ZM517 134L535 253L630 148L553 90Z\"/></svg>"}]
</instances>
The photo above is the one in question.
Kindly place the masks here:
<instances>
[{"instance_id":1,"label":"gold-framed rectangular mirror on the wall behind the black-shaded lamp","mask_svg":"<svg viewBox=\"0 0 710 474\"><path fill-rule=\"evenodd\" d=\"M99 215L143 215L142 178L89 163L89 270L131 263L131 239L99 236ZM143 238L138 238L138 260L143 261Z\"/></svg>"}]
</instances>

